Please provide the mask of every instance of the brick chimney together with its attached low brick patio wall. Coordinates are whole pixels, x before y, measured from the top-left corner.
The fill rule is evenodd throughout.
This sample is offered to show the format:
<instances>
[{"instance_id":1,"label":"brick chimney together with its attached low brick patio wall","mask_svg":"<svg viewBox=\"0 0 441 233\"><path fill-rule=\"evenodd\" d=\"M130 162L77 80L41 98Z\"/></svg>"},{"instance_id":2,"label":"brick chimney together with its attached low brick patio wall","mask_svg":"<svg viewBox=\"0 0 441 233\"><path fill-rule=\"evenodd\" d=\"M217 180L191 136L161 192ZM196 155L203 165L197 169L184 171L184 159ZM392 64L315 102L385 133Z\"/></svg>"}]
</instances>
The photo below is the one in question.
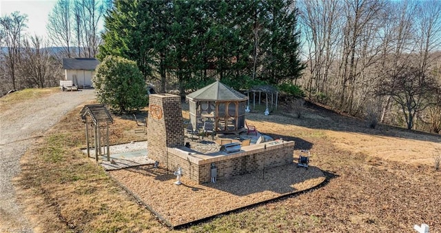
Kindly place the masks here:
<instances>
[{"instance_id":1,"label":"brick chimney together with its attached low brick patio wall","mask_svg":"<svg viewBox=\"0 0 441 233\"><path fill-rule=\"evenodd\" d=\"M179 119L176 121L176 119ZM293 163L294 141L269 141L240 146L234 152L198 152L185 147L181 98L151 94L148 117L148 156L166 170L181 168L188 179L205 183ZM207 136L209 138L209 136ZM213 177L212 168L216 168Z\"/></svg>"}]
</instances>

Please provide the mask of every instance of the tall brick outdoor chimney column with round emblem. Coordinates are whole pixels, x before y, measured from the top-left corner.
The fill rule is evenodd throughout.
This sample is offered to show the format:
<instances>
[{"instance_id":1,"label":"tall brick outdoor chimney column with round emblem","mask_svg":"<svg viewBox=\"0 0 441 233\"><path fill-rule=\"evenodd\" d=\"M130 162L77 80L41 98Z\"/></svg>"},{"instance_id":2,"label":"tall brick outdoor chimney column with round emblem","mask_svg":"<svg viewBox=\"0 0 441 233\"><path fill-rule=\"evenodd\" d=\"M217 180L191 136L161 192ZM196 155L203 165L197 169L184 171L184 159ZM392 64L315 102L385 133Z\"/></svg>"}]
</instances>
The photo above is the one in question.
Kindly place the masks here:
<instances>
[{"instance_id":1,"label":"tall brick outdoor chimney column with round emblem","mask_svg":"<svg viewBox=\"0 0 441 233\"><path fill-rule=\"evenodd\" d=\"M167 147L184 145L181 97L174 94L150 94L147 119L148 156L167 167Z\"/></svg>"}]
</instances>

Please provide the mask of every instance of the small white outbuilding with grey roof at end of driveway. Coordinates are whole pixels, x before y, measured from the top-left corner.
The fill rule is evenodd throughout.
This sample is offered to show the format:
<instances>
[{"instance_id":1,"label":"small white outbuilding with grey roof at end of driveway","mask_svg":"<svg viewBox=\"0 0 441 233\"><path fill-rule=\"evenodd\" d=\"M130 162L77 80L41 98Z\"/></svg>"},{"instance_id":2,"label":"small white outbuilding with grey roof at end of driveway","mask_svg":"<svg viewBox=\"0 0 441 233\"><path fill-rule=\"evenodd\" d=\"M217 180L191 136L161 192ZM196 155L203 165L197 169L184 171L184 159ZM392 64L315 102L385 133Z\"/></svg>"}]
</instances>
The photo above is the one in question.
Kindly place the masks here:
<instances>
[{"instance_id":1,"label":"small white outbuilding with grey roof at end of driveway","mask_svg":"<svg viewBox=\"0 0 441 233\"><path fill-rule=\"evenodd\" d=\"M99 61L93 58L63 59L64 80L72 80L79 88L92 86L92 77Z\"/></svg>"}]
</instances>

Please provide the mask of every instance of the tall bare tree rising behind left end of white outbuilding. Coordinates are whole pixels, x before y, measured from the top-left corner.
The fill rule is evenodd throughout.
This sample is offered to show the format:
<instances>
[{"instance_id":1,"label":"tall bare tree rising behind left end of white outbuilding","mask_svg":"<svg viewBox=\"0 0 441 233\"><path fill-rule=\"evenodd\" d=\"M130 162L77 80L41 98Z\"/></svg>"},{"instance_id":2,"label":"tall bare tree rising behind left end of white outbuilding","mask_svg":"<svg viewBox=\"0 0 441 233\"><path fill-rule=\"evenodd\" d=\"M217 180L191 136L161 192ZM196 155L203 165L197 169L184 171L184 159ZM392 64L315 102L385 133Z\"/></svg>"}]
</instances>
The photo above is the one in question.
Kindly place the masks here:
<instances>
[{"instance_id":1,"label":"tall bare tree rising behind left end of white outbuilding","mask_svg":"<svg viewBox=\"0 0 441 233\"><path fill-rule=\"evenodd\" d=\"M49 14L48 28L49 38L54 45L63 47L63 54L72 57L72 2L70 0L59 0Z\"/></svg>"}]
</instances>

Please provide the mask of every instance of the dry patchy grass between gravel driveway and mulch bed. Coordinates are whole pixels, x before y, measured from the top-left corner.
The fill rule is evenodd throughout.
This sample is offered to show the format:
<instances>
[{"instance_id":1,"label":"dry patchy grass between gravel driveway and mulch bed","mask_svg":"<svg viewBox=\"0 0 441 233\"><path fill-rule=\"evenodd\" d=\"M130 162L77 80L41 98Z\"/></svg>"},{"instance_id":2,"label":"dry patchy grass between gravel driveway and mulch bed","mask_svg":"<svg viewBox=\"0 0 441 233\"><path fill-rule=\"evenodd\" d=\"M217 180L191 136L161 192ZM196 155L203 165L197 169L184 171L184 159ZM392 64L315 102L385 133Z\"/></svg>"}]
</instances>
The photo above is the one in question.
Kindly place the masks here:
<instances>
[{"instance_id":1,"label":"dry patchy grass between gravel driveway and mulch bed","mask_svg":"<svg viewBox=\"0 0 441 233\"><path fill-rule=\"evenodd\" d=\"M19 194L41 223L41 231L164 231L150 212L78 150L85 141L80 110L67 114L21 160L22 172L16 180ZM121 128L131 127L121 127L121 121L116 121L116 128L111 130L112 142L139 140L137 135L122 133Z\"/></svg>"}]
</instances>

